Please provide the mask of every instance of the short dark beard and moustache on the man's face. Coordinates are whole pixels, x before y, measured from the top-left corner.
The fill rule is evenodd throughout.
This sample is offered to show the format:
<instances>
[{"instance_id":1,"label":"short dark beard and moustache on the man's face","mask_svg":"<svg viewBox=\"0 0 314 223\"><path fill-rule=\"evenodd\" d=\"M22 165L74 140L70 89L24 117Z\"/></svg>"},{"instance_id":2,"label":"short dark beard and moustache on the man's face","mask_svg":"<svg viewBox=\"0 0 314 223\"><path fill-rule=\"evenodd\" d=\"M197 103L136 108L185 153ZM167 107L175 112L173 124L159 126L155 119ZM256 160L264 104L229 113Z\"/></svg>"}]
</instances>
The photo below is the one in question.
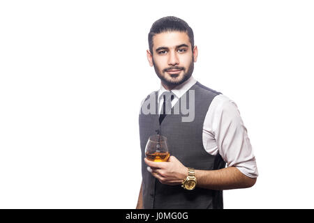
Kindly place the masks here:
<instances>
[{"instance_id":1,"label":"short dark beard and moustache on the man's face","mask_svg":"<svg viewBox=\"0 0 314 223\"><path fill-rule=\"evenodd\" d=\"M184 67L172 66L170 68L165 68L162 71L160 71L160 69L158 68L158 66L156 66L156 63L154 62L154 59L153 59L153 65L154 65L156 75L159 77L161 82L163 82L167 86L177 86L179 84L186 82L186 80L189 79L190 76L192 76L192 73L194 70L194 58L192 56L192 61L190 62L190 66L188 66L188 70L186 70L186 68ZM167 72L167 70L182 70L182 72L184 72L184 75L178 78L174 78L174 77L177 77L177 75L170 75L170 78L167 78L165 75L165 72Z\"/></svg>"}]
</instances>

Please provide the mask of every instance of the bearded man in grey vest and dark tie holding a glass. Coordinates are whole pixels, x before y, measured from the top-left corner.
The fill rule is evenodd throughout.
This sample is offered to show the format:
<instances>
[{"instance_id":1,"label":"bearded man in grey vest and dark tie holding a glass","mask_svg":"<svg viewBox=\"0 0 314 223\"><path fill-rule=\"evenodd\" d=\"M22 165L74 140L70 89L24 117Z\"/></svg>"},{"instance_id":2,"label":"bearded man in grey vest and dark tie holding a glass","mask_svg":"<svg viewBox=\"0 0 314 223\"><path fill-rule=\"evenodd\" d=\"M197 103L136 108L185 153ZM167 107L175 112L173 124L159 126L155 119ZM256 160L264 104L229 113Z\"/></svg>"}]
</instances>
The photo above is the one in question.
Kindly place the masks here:
<instances>
[{"instance_id":1,"label":"bearded man in grey vest and dark tie holding a glass","mask_svg":"<svg viewBox=\"0 0 314 223\"><path fill-rule=\"evenodd\" d=\"M193 30L184 20L163 17L151 26L147 59L160 89L143 101L139 117L137 208L223 208L223 190L256 182L255 156L237 105L194 79L197 52ZM147 113L147 102L153 112ZM190 118L184 119L182 105L193 113ZM156 132L167 138L167 162L145 157L147 140Z\"/></svg>"}]
</instances>

